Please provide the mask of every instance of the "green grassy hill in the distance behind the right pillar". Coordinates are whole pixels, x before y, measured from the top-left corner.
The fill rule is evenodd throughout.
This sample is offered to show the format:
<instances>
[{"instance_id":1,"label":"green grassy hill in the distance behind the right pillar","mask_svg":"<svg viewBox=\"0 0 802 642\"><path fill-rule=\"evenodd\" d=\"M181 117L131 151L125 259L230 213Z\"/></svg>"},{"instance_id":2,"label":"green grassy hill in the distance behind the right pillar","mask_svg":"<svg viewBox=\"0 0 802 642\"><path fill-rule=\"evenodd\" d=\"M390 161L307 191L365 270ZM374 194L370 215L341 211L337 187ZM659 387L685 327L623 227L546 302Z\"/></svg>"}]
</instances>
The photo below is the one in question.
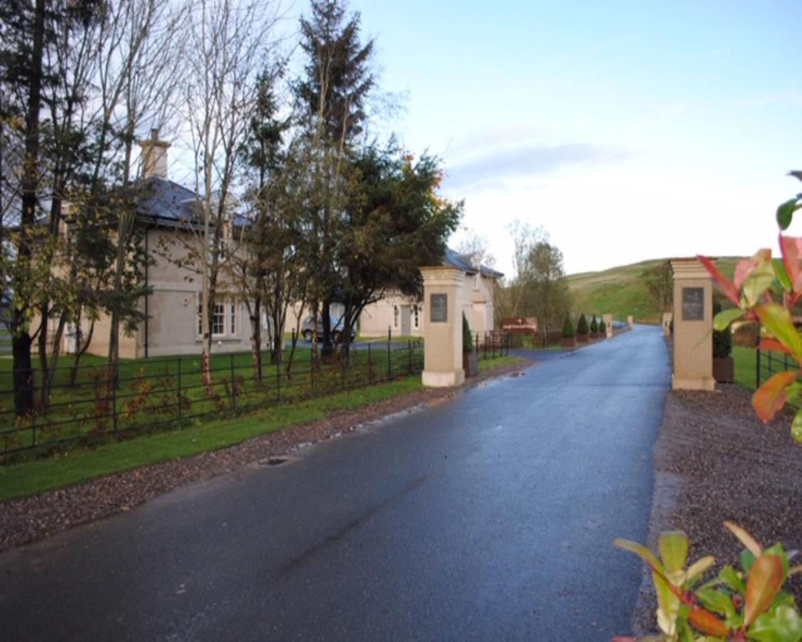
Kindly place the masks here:
<instances>
[{"instance_id":1,"label":"green grassy hill in the distance behind the right pillar","mask_svg":"<svg viewBox=\"0 0 802 642\"><path fill-rule=\"evenodd\" d=\"M719 258L719 270L731 277L738 258ZM641 323L660 323L662 310L646 290L643 273L665 262L665 258L618 266L601 272L570 274L567 278L573 310L587 315L610 313L625 320L633 315Z\"/></svg>"}]
</instances>

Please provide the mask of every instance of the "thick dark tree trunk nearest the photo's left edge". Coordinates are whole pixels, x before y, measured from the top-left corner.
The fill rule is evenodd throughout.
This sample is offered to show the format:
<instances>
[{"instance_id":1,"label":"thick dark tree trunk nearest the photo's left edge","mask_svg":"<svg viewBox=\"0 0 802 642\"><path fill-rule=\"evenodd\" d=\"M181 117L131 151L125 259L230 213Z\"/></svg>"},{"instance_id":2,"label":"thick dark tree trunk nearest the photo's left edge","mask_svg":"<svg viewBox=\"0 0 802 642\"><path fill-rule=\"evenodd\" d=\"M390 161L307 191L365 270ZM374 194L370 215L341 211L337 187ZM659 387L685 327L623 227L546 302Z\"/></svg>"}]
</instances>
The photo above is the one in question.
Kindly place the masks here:
<instances>
[{"instance_id":1,"label":"thick dark tree trunk nearest the photo's left edge","mask_svg":"<svg viewBox=\"0 0 802 642\"><path fill-rule=\"evenodd\" d=\"M26 114L25 158L22 165L22 215L20 241L17 254L22 278L30 268L30 234L33 232L36 214L36 192L38 188L39 163L39 108L42 104L42 59L44 51L45 0L36 0L34 5L34 30L30 50L30 85ZM14 306L14 410L18 416L29 414L34 409L34 377L30 364L30 332L28 327L28 304Z\"/></svg>"}]
</instances>

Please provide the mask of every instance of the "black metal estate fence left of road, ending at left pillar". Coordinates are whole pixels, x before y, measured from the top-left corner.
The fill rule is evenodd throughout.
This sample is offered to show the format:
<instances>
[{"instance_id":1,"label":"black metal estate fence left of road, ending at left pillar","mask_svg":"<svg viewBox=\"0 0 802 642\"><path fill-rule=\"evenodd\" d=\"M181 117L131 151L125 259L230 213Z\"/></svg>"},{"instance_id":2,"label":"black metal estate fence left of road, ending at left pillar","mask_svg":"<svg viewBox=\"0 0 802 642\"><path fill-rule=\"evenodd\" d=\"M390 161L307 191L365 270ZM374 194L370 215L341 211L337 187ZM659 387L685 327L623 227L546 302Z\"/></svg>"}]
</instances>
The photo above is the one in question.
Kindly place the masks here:
<instances>
[{"instance_id":1,"label":"black metal estate fence left of road, ending at left pillar","mask_svg":"<svg viewBox=\"0 0 802 642\"><path fill-rule=\"evenodd\" d=\"M75 376L71 366L55 368L47 407L26 416L14 412L13 372L0 372L0 457L177 429L409 376L423 370L423 343L354 343L347 359L326 362L308 349L291 365L264 358L259 377L249 353L215 355L210 382L199 356L124 361L116 373L106 364L81 366ZM31 373L34 386L41 376Z\"/></svg>"}]
</instances>

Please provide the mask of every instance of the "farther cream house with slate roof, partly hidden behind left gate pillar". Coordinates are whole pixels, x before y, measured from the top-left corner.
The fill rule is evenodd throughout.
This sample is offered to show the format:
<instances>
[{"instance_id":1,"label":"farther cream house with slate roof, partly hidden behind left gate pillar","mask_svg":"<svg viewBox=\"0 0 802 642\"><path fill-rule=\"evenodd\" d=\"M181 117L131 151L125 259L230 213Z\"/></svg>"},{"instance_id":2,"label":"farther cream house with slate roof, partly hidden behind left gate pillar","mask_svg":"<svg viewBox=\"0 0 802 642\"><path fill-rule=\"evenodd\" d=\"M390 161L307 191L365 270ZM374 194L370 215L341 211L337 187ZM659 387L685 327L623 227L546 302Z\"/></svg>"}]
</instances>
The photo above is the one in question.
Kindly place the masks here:
<instances>
[{"instance_id":1,"label":"farther cream house with slate roof, partly hidden behind left gate pillar","mask_svg":"<svg viewBox=\"0 0 802 642\"><path fill-rule=\"evenodd\" d=\"M470 258L447 249L444 266L456 267L465 273L462 311L474 335L492 331L494 312L493 287L504 274L486 266L473 266ZM365 307L359 317L359 334L365 337L423 335L423 301L399 294L386 295Z\"/></svg>"}]
</instances>

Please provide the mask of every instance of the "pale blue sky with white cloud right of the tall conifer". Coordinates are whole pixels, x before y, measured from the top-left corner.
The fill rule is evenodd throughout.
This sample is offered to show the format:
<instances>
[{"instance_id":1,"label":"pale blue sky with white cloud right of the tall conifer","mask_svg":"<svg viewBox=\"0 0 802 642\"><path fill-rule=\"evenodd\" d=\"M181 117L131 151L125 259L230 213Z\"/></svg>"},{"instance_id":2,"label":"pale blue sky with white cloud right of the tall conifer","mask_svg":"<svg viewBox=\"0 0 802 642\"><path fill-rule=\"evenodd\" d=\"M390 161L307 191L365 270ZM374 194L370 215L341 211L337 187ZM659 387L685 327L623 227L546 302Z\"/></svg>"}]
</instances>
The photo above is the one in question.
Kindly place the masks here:
<instances>
[{"instance_id":1,"label":"pale blue sky with white cloud right of the tall conifer","mask_svg":"<svg viewBox=\"0 0 802 642\"><path fill-rule=\"evenodd\" d=\"M574 273L773 246L802 190L802 2L350 7L402 99L385 128L443 159L508 274L516 218Z\"/></svg>"}]
</instances>

